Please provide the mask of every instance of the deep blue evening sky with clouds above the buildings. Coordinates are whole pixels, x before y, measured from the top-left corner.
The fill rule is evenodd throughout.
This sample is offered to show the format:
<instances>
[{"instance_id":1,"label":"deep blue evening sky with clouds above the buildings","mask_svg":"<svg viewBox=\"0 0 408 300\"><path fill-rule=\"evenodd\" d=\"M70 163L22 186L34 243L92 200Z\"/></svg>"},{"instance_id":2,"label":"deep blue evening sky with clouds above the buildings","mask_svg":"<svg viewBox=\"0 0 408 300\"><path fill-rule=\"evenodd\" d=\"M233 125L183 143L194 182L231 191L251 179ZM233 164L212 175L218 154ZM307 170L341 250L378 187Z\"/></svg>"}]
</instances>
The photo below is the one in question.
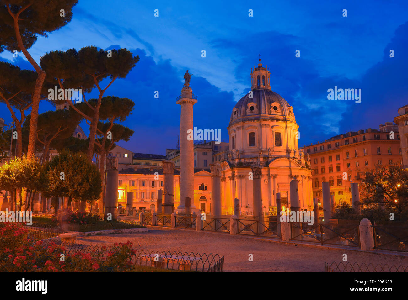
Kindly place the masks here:
<instances>
[{"instance_id":1,"label":"deep blue evening sky with clouds above the buildings","mask_svg":"<svg viewBox=\"0 0 408 300\"><path fill-rule=\"evenodd\" d=\"M248 92L249 74L261 53L271 71L272 90L293 106L303 145L378 128L408 102L408 2L355 2L100 0L96 5L80 0L73 20L48 38L39 37L29 52L38 62L49 51L88 45L122 47L139 55L128 77L116 80L105 95L135 102L124 122L135 134L119 145L154 154L176 146L180 106L175 98L186 69L198 96L194 125L221 129L222 140L227 140L231 110ZM155 9L159 17L154 17ZM390 50L395 57L389 57ZM25 57L3 52L0 59L31 69ZM334 86L361 88L361 103L328 100L327 90ZM40 104L40 113L50 109L46 101ZM2 104L0 111L0 117L11 121ZM86 124L82 127L89 131Z\"/></svg>"}]
</instances>

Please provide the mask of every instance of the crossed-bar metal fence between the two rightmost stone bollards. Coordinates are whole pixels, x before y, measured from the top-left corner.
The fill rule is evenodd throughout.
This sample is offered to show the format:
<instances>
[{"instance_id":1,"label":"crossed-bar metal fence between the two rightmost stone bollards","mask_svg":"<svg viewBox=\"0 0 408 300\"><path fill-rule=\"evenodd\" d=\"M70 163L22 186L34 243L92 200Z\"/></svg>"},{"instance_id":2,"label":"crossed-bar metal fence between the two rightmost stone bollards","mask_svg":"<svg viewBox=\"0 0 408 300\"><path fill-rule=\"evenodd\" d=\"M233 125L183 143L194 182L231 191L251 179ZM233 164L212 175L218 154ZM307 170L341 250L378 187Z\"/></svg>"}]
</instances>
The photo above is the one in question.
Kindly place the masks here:
<instances>
[{"instance_id":1,"label":"crossed-bar metal fence between the two rightmost stone bollards","mask_svg":"<svg viewBox=\"0 0 408 300\"><path fill-rule=\"evenodd\" d=\"M313 243L360 247L359 226L355 224L330 224L306 222L290 223L290 239Z\"/></svg>"}]
</instances>

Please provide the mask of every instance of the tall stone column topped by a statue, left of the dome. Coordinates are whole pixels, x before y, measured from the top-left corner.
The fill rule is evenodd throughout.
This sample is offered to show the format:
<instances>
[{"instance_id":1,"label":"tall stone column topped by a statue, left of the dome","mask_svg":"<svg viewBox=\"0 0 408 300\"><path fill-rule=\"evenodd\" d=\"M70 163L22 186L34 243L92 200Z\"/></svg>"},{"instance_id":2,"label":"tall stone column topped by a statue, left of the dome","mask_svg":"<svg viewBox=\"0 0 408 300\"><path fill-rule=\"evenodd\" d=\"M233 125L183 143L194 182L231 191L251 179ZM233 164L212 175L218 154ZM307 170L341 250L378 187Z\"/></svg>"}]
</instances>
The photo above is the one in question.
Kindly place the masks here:
<instances>
[{"instance_id":1,"label":"tall stone column topped by a statue, left of the dome","mask_svg":"<svg viewBox=\"0 0 408 300\"><path fill-rule=\"evenodd\" d=\"M184 74L186 83L181 90L181 95L177 97L177 104L181 106L180 115L180 205L177 208L184 209L185 197L191 199L191 209L194 205L194 140L187 140L187 130L193 130L193 105L197 103L197 96L193 95L190 88L191 75Z\"/></svg>"}]
</instances>

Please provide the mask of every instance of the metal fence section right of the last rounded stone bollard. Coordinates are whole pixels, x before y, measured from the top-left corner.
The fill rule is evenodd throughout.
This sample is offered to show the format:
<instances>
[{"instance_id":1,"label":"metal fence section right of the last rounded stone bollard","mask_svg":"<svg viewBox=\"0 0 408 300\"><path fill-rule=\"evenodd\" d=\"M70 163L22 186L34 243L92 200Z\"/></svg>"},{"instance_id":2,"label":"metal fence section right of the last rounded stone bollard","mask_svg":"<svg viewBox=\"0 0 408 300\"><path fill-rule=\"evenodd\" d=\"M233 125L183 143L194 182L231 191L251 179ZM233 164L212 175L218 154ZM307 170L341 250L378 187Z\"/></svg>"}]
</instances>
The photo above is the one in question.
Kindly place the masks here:
<instances>
[{"instance_id":1,"label":"metal fence section right of the last rounded stone bollard","mask_svg":"<svg viewBox=\"0 0 408 300\"><path fill-rule=\"evenodd\" d=\"M408 228L373 225L374 248L408 252Z\"/></svg>"}]
</instances>

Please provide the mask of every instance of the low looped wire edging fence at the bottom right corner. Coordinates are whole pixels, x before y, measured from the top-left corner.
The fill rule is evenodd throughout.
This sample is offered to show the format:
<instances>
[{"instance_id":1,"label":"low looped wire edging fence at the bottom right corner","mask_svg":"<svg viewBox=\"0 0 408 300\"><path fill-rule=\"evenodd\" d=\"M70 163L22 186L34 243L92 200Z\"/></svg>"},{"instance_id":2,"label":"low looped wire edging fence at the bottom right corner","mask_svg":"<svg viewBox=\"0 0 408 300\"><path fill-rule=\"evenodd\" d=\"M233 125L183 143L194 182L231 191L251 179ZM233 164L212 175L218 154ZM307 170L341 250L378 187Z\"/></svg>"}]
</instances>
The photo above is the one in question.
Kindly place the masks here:
<instances>
[{"instance_id":1,"label":"low looped wire edging fence at the bottom right corner","mask_svg":"<svg viewBox=\"0 0 408 300\"><path fill-rule=\"evenodd\" d=\"M359 265L357 262L351 264L350 262L332 262L330 265L327 262L324 262L324 271L325 272L407 272L408 266L403 267L399 265L373 265L369 263L366 265L364 262Z\"/></svg>"}]
</instances>

